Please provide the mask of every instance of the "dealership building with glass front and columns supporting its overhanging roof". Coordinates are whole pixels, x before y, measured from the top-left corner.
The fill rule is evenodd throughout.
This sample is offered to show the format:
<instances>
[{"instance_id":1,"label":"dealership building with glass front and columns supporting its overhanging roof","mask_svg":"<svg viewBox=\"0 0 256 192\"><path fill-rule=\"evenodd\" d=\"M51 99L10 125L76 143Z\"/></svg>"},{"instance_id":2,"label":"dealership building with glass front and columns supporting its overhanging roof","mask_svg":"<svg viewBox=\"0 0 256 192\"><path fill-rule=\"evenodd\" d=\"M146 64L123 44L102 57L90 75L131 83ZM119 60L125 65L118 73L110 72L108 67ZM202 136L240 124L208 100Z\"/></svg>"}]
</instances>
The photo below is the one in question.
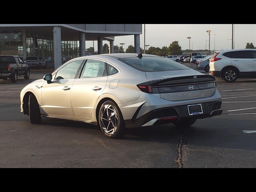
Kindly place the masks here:
<instances>
[{"instance_id":1,"label":"dealership building with glass front and columns supporting its overhanging roof","mask_svg":"<svg viewBox=\"0 0 256 192\"><path fill-rule=\"evenodd\" d=\"M114 53L114 37L134 35L134 52L140 52L141 24L0 24L0 55L22 58L38 56L54 60L54 68L63 58L86 55L86 41L109 41L109 52ZM79 46L78 46L79 45Z\"/></svg>"}]
</instances>

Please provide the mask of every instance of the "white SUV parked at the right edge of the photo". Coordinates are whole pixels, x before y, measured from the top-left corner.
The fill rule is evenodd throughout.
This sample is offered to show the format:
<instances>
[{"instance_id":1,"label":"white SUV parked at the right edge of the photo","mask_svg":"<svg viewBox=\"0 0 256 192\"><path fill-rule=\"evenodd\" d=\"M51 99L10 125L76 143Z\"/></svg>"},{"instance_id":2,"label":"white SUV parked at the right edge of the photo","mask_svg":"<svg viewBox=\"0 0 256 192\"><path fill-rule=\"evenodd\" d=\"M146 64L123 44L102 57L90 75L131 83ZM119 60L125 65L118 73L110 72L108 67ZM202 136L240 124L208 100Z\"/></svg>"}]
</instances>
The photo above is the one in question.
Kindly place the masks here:
<instances>
[{"instance_id":1,"label":"white SUV parked at the right edge of the photo","mask_svg":"<svg viewBox=\"0 0 256 192\"><path fill-rule=\"evenodd\" d=\"M216 52L210 59L209 74L232 83L238 77L256 77L256 49Z\"/></svg>"}]
</instances>

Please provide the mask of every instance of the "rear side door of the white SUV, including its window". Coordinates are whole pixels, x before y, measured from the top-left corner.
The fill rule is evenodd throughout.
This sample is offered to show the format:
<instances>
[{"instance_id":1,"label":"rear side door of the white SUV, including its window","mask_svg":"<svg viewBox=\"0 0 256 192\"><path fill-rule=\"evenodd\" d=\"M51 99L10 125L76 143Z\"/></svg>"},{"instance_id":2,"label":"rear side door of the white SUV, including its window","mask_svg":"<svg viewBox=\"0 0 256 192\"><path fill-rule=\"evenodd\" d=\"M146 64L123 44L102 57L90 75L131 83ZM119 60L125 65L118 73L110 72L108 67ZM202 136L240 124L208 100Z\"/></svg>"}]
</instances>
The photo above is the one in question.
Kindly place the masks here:
<instances>
[{"instance_id":1,"label":"rear side door of the white SUV, including its window","mask_svg":"<svg viewBox=\"0 0 256 192\"><path fill-rule=\"evenodd\" d=\"M253 72L252 52L251 51L234 51L231 58L232 65L236 66L240 72Z\"/></svg>"}]
</instances>

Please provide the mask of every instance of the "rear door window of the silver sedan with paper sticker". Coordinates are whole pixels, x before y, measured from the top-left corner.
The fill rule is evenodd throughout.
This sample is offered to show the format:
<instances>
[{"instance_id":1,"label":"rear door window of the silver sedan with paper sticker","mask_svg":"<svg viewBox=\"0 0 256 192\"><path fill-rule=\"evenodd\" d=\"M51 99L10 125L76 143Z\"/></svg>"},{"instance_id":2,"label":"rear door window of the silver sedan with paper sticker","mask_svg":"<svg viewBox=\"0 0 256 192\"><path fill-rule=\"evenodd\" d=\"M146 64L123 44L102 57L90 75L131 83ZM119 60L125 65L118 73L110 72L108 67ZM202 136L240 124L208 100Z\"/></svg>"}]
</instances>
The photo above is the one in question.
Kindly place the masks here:
<instances>
[{"instance_id":1,"label":"rear door window of the silver sedan with paper sticker","mask_svg":"<svg viewBox=\"0 0 256 192\"><path fill-rule=\"evenodd\" d=\"M80 78L95 78L107 76L105 62L98 60L87 60Z\"/></svg>"}]
</instances>

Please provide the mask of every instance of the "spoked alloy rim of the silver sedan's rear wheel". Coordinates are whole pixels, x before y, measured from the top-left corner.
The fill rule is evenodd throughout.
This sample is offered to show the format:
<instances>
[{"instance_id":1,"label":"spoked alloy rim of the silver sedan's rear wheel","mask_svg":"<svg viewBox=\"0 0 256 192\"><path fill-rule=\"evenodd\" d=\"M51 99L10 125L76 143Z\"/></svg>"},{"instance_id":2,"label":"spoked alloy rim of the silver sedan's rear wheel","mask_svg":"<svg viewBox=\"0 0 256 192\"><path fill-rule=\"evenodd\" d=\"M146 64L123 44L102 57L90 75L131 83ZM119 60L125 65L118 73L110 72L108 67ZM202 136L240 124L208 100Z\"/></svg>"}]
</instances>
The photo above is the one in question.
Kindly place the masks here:
<instances>
[{"instance_id":1,"label":"spoked alloy rim of the silver sedan's rear wheel","mask_svg":"<svg viewBox=\"0 0 256 192\"><path fill-rule=\"evenodd\" d=\"M106 134L112 135L118 128L118 114L115 108L106 104L100 112L100 122Z\"/></svg>"}]
</instances>

